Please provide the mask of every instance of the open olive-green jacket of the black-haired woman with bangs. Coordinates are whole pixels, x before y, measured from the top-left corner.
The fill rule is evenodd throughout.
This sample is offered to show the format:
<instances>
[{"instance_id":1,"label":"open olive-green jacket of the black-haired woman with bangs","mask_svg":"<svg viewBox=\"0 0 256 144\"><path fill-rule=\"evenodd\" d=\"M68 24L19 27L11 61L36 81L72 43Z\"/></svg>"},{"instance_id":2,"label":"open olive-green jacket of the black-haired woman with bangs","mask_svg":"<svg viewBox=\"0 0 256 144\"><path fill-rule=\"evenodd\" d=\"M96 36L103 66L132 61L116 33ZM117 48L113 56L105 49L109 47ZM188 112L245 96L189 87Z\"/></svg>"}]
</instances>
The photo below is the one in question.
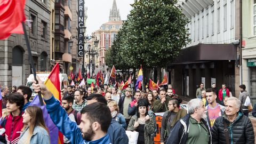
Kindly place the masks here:
<instances>
[{"instance_id":1,"label":"open olive-green jacket of the black-haired woman with bangs","mask_svg":"<svg viewBox=\"0 0 256 144\"><path fill-rule=\"evenodd\" d=\"M136 130L136 128L133 126L136 121L138 121L138 117L137 117L137 115L133 115L131 118L131 121L127 127L127 131L135 131ZM145 127L144 127L145 143L154 144L153 137L151 136L151 134L153 134L154 132L155 132L155 125L153 122L153 118L150 117L149 121L145 122Z\"/></svg>"}]
</instances>

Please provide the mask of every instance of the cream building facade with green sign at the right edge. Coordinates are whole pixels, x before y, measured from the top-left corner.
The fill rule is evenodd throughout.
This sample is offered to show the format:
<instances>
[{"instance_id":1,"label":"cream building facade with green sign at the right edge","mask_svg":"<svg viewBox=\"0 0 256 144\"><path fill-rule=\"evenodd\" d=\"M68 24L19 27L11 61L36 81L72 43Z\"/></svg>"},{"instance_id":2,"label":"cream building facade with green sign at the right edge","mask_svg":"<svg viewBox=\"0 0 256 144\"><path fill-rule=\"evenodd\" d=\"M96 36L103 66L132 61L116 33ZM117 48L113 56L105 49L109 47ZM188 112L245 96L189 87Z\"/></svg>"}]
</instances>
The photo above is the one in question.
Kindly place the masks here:
<instances>
[{"instance_id":1,"label":"cream building facade with green sign at the right edge","mask_svg":"<svg viewBox=\"0 0 256 144\"><path fill-rule=\"evenodd\" d=\"M256 1L242 3L243 49L242 67L243 84L249 92L252 103L256 102Z\"/></svg>"}]
</instances>

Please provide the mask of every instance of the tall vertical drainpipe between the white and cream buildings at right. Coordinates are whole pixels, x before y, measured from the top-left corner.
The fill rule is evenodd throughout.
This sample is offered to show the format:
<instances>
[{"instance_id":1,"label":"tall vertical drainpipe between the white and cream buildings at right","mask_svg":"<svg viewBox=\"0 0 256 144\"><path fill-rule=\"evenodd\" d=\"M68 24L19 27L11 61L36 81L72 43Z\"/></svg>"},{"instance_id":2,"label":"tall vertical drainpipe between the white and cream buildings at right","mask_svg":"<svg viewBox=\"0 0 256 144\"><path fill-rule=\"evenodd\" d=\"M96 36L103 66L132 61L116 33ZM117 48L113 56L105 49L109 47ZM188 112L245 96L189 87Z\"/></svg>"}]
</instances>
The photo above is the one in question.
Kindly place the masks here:
<instances>
[{"instance_id":1,"label":"tall vertical drainpipe between the white and cream buildings at right","mask_svg":"<svg viewBox=\"0 0 256 144\"><path fill-rule=\"evenodd\" d=\"M243 71L242 71L242 42L243 42L243 31L242 31L242 0L239 0L239 77L240 77L240 85L243 84Z\"/></svg>"}]
</instances>

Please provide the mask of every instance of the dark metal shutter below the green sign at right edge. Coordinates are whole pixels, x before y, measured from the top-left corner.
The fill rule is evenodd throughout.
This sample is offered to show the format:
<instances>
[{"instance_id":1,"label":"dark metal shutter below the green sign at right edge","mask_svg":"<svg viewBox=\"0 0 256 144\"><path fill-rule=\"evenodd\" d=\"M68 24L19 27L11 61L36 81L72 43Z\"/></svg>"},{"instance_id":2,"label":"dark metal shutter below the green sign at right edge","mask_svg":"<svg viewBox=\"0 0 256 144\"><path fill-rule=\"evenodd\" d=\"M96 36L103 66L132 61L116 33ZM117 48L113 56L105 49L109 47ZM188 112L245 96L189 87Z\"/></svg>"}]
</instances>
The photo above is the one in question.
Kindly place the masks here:
<instances>
[{"instance_id":1,"label":"dark metal shutter below the green sign at right edge","mask_svg":"<svg viewBox=\"0 0 256 144\"><path fill-rule=\"evenodd\" d=\"M251 67L251 99L252 99L252 105L256 103L256 67Z\"/></svg>"}]
</instances>

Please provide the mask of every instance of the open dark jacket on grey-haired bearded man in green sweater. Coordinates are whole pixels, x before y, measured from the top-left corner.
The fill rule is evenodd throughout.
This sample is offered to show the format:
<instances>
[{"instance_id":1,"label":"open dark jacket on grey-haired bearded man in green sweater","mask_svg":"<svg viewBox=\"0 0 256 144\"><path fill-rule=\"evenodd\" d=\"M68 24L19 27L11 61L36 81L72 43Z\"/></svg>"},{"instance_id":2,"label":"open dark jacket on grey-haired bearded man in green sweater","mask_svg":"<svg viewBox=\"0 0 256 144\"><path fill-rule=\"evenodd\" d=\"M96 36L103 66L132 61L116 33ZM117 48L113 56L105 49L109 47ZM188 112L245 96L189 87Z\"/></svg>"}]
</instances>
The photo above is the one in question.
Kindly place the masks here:
<instances>
[{"instance_id":1,"label":"open dark jacket on grey-haired bearded man in green sweater","mask_svg":"<svg viewBox=\"0 0 256 144\"><path fill-rule=\"evenodd\" d=\"M188 130L189 130L189 117L190 115L187 114L183 118L181 118L177 123L172 127L172 130L169 134L169 137L166 141L166 143L180 143L185 144L188 140ZM204 119L201 119L201 121L204 123L205 127L207 127L209 132L209 144L211 143L211 131L210 127L207 125L206 121Z\"/></svg>"}]
</instances>

